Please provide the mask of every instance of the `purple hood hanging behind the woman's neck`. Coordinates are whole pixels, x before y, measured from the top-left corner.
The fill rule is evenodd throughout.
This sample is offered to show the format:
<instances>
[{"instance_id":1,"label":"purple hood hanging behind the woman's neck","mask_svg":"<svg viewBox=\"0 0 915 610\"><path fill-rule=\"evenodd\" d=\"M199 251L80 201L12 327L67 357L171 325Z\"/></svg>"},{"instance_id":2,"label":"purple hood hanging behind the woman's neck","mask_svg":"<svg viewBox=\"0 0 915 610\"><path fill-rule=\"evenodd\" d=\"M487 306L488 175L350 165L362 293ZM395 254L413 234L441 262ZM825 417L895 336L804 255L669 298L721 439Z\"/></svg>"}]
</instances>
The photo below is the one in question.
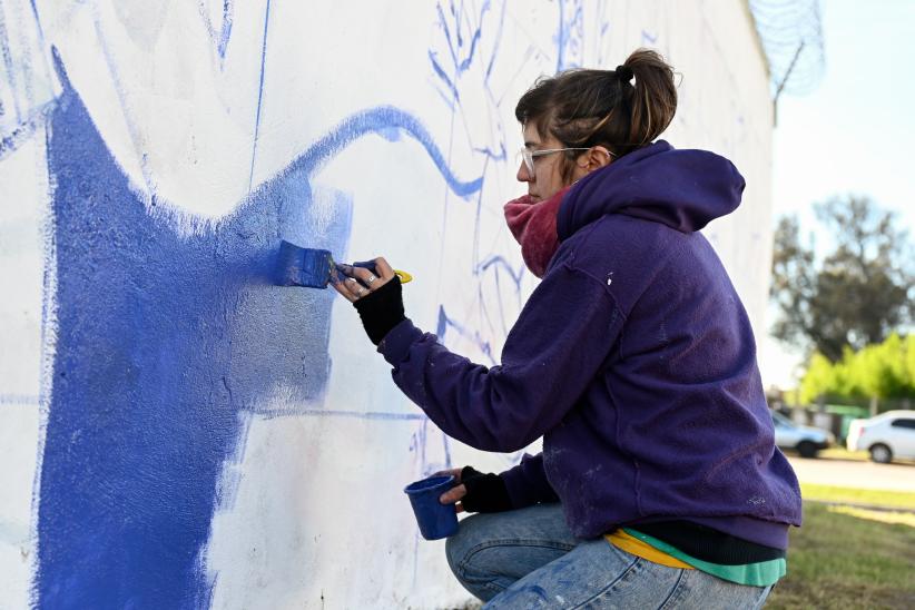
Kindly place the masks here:
<instances>
[{"instance_id":1,"label":"purple hood hanging behind the woman's neck","mask_svg":"<svg viewBox=\"0 0 915 610\"><path fill-rule=\"evenodd\" d=\"M737 209L745 184L725 157L658 140L580 179L562 198L557 233L567 239L607 214L693 233Z\"/></svg>"}]
</instances>

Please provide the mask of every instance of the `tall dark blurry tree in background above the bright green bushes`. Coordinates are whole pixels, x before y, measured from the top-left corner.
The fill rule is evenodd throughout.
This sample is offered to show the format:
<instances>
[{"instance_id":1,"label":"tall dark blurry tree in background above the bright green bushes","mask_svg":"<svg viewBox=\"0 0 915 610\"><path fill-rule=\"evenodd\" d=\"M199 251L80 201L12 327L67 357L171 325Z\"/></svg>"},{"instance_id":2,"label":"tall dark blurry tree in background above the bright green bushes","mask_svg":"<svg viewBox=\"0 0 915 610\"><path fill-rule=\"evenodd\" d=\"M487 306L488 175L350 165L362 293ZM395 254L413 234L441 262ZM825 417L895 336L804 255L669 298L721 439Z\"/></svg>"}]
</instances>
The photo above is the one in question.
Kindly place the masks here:
<instances>
[{"instance_id":1,"label":"tall dark blurry tree in background above the bright green bushes","mask_svg":"<svg viewBox=\"0 0 915 610\"><path fill-rule=\"evenodd\" d=\"M780 315L773 335L837 362L846 346L880 343L909 324L913 256L896 214L866 197L835 197L816 214L834 242L821 259L813 239L801 244L796 216L776 228L770 294Z\"/></svg>"}]
</instances>

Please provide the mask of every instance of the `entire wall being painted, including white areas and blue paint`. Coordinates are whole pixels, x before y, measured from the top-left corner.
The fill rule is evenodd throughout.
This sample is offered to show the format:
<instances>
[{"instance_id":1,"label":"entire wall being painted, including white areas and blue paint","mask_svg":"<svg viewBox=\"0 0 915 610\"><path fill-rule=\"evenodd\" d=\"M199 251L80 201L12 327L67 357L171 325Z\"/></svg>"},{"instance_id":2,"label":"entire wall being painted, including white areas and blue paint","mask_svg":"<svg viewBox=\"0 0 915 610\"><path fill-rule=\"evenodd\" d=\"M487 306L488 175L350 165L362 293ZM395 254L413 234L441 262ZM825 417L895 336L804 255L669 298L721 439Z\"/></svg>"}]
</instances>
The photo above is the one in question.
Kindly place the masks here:
<instances>
[{"instance_id":1,"label":"entire wall being painted, including white areas and blue paint","mask_svg":"<svg viewBox=\"0 0 915 610\"><path fill-rule=\"evenodd\" d=\"M348 4L348 6L347 6ZM520 95L638 47L666 138L729 157L706 229L757 334L774 105L747 2L0 8L0 606L461 604L402 488L465 463L281 238L416 278L409 315L495 364L537 279L502 219Z\"/></svg>"}]
</instances>

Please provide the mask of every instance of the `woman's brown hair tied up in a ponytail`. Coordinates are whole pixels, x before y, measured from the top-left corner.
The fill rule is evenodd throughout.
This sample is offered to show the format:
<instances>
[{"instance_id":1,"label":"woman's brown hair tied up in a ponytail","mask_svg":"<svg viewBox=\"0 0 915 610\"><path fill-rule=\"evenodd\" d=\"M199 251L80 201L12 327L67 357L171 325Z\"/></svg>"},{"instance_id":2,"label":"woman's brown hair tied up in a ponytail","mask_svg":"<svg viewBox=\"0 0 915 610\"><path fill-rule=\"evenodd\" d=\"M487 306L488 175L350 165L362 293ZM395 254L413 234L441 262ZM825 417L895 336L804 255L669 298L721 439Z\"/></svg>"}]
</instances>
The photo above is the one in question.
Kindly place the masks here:
<instances>
[{"instance_id":1,"label":"woman's brown hair tied up in a ponytail","mask_svg":"<svg viewBox=\"0 0 915 610\"><path fill-rule=\"evenodd\" d=\"M514 116L563 147L601 145L619 158L657 138L676 111L673 68L656 51L638 49L616 70L574 69L538 79ZM578 155L565 152L564 178Z\"/></svg>"}]
</instances>

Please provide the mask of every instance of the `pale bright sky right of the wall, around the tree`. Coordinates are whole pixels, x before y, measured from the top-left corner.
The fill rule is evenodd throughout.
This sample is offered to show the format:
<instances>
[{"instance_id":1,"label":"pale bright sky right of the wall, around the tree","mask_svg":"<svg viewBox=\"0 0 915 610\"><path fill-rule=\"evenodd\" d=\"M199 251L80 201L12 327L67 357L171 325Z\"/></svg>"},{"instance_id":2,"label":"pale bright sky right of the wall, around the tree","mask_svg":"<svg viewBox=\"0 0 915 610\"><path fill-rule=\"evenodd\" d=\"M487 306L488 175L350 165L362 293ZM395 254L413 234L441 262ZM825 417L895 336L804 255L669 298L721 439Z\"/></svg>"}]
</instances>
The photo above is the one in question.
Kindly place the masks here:
<instances>
[{"instance_id":1,"label":"pale bright sky right of the wall, around the tree","mask_svg":"<svg viewBox=\"0 0 915 610\"><path fill-rule=\"evenodd\" d=\"M773 222L797 213L804 230L814 230L813 204L856 193L897 210L915 234L915 0L820 7L824 78L813 94L778 104ZM774 315L770 308L768 323ZM797 355L759 338L762 382L794 385Z\"/></svg>"}]
</instances>

